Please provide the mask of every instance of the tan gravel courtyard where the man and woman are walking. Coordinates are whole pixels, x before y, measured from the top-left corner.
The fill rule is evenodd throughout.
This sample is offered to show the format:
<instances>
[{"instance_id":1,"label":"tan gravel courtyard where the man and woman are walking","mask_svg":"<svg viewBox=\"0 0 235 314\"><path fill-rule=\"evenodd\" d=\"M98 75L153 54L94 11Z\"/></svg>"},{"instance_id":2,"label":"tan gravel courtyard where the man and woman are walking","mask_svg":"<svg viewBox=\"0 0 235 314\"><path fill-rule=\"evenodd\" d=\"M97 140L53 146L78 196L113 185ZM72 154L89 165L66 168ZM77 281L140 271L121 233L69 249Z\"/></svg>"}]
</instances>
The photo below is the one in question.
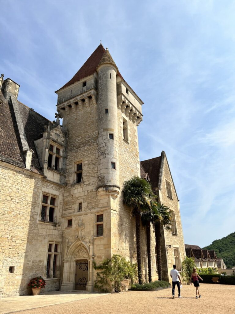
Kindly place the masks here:
<instances>
[{"instance_id":1,"label":"tan gravel courtyard where the man and woman are walking","mask_svg":"<svg viewBox=\"0 0 235 314\"><path fill-rule=\"evenodd\" d=\"M199 291L202 297L196 299L194 286L183 286L183 298L175 297L174 300L171 297L171 289L156 292L128 291L14 313L235 313L235 285L201 284Z\"/></svg>"}]
</instances>

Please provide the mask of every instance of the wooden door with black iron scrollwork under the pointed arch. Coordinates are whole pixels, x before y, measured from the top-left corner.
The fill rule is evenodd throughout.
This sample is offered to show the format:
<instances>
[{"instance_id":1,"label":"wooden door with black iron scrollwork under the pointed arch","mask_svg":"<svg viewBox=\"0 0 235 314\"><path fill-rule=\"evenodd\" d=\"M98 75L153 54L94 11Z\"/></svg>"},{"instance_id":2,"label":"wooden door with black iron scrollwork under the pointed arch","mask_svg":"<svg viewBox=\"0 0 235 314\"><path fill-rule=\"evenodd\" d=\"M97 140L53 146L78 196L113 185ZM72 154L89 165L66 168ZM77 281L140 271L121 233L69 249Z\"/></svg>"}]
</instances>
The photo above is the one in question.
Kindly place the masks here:
<instances>
[{"instance_id":1,"label":"wooden door with black iron scrollwork under the pointed arch","mask_svg":"<svg viewBox=\"0 0 235 314\"><path fill-rule=\"evenodd\" d=\"M75 290L86 290L88 281L88 260L76 260Z\"/></svg>"}]
</instances>

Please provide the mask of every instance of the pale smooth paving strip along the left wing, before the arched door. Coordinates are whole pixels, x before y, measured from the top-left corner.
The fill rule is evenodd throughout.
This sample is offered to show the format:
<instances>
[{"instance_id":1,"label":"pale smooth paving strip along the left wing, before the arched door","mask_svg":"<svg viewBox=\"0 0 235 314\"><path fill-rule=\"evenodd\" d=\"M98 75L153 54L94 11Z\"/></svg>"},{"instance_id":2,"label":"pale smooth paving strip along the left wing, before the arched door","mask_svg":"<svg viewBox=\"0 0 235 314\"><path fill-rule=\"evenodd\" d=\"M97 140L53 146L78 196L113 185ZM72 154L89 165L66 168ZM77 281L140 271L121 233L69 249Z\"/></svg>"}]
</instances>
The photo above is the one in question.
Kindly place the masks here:
<instances>
[{"instance_id":1,"label":"pale smooth paving strip along the left wing, before the arched door","mask_svg":"<svg viewBox=\"0 0 235 314\"><path fill-rule=\"evenodd\" d=\"M35 309L38 307L95 298L107 293L89 293L86 291L50 291L39 295L24 295L0 299L0 314Z\"/></svg>"}]
</instances>

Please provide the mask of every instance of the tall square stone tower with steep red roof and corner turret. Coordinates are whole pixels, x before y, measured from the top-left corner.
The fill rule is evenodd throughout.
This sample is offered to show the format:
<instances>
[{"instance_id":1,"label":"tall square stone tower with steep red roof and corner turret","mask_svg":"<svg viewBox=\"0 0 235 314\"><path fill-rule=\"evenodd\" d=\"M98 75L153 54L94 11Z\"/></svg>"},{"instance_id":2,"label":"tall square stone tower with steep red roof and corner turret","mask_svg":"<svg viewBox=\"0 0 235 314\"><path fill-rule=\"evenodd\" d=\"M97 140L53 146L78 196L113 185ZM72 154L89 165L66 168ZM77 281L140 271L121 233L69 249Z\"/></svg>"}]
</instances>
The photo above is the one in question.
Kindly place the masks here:
<instances>
[{"instance_id":1,"label":"tall square stone tower with steep red roof and corner turret","mask_svg":"<svg viewBox=\"0 0 235 314\"><path fill-rule=\"evenodd\" d=\"M137 126L143 102L102 45L56 93L68 142L61 290L79 289L75 273L85 261L86 290L92 291L93 260L118 253L135 262L135 224L121 189L140 175Z\"/></svg>"}]
</instances>

